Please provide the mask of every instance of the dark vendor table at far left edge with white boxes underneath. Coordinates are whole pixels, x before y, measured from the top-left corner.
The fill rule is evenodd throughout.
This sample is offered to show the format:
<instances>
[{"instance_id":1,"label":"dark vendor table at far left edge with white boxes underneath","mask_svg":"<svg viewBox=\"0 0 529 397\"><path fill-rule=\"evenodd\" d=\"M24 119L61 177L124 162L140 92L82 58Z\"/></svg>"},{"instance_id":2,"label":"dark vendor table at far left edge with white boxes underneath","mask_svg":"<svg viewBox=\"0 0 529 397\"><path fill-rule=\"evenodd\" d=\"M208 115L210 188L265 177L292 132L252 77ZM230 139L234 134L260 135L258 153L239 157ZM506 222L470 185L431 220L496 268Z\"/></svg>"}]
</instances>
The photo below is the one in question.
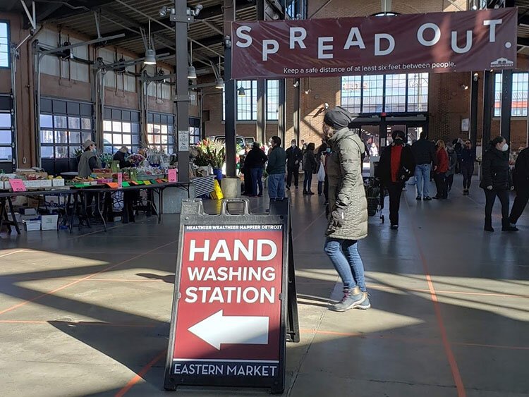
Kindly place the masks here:
<instances>
[{"instance_id":1,"label":"dark vendor table at far left edge with white boxes underneath","mask_svg":"<svg viewBox=\"0 0 529 397\"><path fill-rule=\"evenodd\" d=\"M20 226L16 221L15 211L13 209L13 197L25 196L56 196L56 197L68 197L68 201L64 204L64 216L68 222L68 228L72 231L73 216L68 216L68 206L71 201L71 196L77 197L75 190L68 188L56 188L56 189L45 189L45 190L26 190L25 192L10 192L8 190L0 190L0 229L5 224L8 226L9 232L11 232L11 226L15 226L16 232L20 234ZM8 219L8 211L11 213L11 221Z\"/></svg>"}]
</instances>

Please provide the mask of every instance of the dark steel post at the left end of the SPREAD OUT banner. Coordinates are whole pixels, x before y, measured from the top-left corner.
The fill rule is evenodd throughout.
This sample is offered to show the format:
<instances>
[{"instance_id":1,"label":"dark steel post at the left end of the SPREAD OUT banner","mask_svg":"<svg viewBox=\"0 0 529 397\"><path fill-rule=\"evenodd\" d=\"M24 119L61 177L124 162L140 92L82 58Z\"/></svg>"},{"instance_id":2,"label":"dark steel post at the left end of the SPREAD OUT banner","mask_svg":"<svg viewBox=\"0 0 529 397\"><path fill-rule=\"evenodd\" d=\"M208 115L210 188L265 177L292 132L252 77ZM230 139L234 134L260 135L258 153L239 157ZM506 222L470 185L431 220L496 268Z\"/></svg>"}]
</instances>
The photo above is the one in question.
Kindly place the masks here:
<instances>
[{"instance_id":1,"label":"dark steel post at the left end of the SPREAD OUT banner","mask_svg":"<svg viewBox=\"0 0 529 397\"><path fill-rule=\"evenodd\" d=\"M236 96L231 78L231 23L235 20L235 1L224 0L224 91L226 93L226 176L236 177Z\"/></svg>"}]
</instances>

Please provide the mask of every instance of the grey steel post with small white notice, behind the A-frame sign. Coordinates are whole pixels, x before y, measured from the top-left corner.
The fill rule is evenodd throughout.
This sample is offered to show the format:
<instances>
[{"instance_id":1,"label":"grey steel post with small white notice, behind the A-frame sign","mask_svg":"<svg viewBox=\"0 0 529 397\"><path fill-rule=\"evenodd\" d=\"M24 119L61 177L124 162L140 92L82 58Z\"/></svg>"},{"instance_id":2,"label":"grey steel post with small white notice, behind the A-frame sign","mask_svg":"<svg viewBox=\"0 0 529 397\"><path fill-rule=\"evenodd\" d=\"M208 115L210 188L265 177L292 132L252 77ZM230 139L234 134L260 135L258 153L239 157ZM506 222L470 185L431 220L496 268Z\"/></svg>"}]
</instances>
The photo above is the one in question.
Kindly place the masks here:
<instances>
[{"instance_id":1,"label":"grey steel post with small white notice, behind the A-frame sign","mask_svg":"<svg viewBox=\"0 0 529 397\"><path fill-rule=\"evenodd\" d=\"M189 181L189 87L188 23L186 1L175 0L176 138L178 141L178 181Z\"/></svg>"}]
</instances>

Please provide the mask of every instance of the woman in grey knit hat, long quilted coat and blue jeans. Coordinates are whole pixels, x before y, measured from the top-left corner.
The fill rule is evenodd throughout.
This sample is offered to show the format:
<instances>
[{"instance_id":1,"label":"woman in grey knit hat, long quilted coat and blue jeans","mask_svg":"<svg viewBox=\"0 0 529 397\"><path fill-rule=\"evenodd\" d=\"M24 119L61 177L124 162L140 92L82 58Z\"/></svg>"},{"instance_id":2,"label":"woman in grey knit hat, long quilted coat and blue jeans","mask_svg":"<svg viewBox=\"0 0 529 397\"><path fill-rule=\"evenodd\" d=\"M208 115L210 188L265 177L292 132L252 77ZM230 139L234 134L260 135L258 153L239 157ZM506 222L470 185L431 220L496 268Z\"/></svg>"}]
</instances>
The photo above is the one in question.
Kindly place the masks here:
<instances>
[{"instance_id":1,"label":"woman in grey knit hat, long quilted coat and blue jeans","mask_svg":"<svg viewBox=\"0 0 529 397\"><path fill-rule=\"evenodd\" d=\"M343 298L329 307L336 312L371 307L358 240L367 236L367 200L362 179L363 142L348 129L351 114L340 106L327 111L324 135L332 148L327 159L329 225L325 252L343 282Z\"/></svg>"}]
</instances>

